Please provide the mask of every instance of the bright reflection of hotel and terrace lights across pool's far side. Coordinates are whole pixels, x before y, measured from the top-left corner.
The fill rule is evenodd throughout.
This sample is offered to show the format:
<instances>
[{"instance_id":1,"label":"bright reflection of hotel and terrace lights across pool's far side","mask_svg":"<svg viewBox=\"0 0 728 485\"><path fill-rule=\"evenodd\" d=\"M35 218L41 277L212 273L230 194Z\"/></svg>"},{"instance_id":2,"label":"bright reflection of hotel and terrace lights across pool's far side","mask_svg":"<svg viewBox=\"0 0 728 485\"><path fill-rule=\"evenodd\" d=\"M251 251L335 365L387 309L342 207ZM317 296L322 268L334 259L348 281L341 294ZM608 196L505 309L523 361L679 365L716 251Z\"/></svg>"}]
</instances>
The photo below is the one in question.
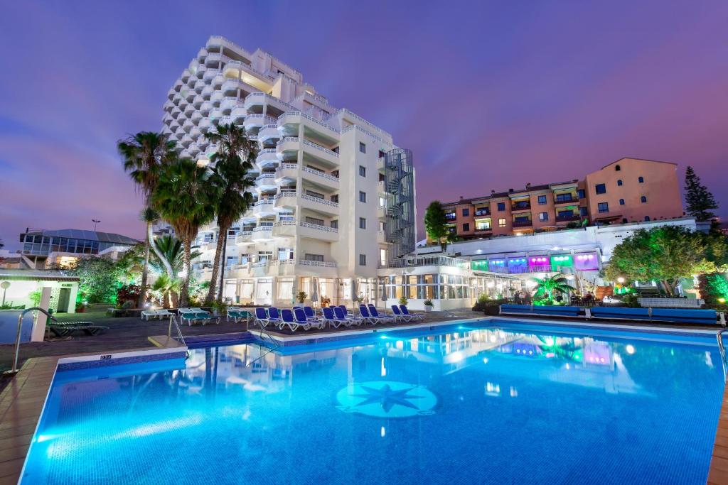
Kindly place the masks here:
<instances>
[{"instance_id":1,"label":"bright reflection of hotel and terrace lights across pool's far side","mask_svg":"<svg viewBox=\"0 0 728 485\"><path fill-rule=\"evenodd\" d=\"M373 345L296 355L282 355L258 345L199 349L180 372L183 387L190 392L201 392L205 382L212 384L214 380L218 389L240 386L248 391L277 393L293 385L296 377L323 368L346 372L347 382L352 383L407 380L417 373L413 365L432 366L433 376L485 365L488 381L484 385L490 396L501 395L501 388L508 391L513 380L530 378L604 388L607 393L641 392L622 363L622 348L631 345L615 346L591 337L462 329L409 339L382 336ZM509 394L516 397L518 390L510 386Z\"/></svg>"}]
</instances>

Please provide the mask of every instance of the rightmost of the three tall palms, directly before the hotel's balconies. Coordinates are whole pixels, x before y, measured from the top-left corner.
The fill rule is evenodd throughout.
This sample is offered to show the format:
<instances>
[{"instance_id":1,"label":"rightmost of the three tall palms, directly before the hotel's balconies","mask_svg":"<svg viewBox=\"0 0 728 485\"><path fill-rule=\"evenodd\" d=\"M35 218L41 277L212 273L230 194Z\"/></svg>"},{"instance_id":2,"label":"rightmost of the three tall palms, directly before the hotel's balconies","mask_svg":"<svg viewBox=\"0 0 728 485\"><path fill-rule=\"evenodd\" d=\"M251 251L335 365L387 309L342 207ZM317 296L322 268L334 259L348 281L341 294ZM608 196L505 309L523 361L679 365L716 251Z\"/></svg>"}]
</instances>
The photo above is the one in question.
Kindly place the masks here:
<instances>
[{"instance_id":1,"label":"rightmost of the three tall palms, directly before the hotel's balconies","mask_svg":"<svg viewBox=\"0 0 728 485\"><path fill-rule=\"evenodd\" d=\"M213 168L213 183L217 185L221 193L220 198L215 200L219 233L215 246L213 274L206 298L207 302L212 302L215 300L218 270L220 270L219 300L222 300L225 267L223 265L220 268L220 262L225 261L228 230L253 203L253 194L247 189L253 186L250 170L253 169L253 161L256 158L256 147L253 141L245 135L245 129L232 123L221 124L214 132L208 132L206 136L210 143L218 146L216 153L210 157L210 162L215 167Z\"/></svg>"}]
</instances>

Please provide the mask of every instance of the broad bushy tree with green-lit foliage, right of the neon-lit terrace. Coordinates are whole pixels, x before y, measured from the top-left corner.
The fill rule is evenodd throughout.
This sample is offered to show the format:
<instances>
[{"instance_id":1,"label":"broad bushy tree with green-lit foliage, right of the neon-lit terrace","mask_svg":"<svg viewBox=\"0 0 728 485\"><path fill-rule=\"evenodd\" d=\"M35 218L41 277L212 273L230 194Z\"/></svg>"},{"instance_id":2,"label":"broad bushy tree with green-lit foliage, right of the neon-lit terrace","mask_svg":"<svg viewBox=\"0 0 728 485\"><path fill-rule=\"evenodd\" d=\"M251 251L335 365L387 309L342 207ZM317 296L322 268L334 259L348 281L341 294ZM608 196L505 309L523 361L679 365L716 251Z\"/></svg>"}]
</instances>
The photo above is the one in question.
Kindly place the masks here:
<instances>
[{"instance_id":1,"label":"broad bushy tree with green-lit foliage, right of the neon-lit terrace","mask_svg":"<svg viewBox=\"0 0 728 485\"><path fill-rule=\"evenodd\" d=\"M605 276L612 281L660 281L674 294L679 278L713 273L724 265L725 238L677 225L641 229L614 247Z\"/></svg>"}]
</instances>

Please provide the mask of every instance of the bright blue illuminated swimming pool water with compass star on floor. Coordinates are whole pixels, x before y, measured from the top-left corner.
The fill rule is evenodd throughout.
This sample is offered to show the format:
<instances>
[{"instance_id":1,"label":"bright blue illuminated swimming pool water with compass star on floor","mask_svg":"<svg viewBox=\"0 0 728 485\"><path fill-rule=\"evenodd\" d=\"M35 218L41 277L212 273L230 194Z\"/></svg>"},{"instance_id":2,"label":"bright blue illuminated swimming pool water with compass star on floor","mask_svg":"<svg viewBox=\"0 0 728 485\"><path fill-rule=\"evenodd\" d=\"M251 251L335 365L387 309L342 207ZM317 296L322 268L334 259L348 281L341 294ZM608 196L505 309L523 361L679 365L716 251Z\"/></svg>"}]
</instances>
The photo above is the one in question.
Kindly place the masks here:
<instances>
[{"instance_id":1,"label":"bright blue illuminated swimming pool water with compass star on floor","mask_svg":"<svg viewBox=\"0 0 728 485\"><path fill-rule=\"evenodd\" d=\"M23 483L705 483L714 341L498 325L58 372Z\"/></svg>"}]
</instances>

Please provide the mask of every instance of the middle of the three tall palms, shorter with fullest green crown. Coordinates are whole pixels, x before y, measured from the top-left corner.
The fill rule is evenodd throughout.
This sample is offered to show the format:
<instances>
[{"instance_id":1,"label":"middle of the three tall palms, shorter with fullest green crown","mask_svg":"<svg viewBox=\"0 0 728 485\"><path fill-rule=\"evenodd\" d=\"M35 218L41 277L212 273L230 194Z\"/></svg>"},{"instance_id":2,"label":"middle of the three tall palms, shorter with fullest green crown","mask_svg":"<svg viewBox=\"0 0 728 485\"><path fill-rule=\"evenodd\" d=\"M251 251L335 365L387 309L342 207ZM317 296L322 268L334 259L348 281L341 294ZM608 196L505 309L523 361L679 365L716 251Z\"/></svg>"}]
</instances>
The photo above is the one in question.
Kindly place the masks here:
<instances>
[{"instance_id":1,"label":"middle of the three tall palms, shorter with fullest green crown","mask_svg":"<svg viewBox=\"0 0 728 485\"><path fill-rule=\"evenodd\" d=\"M162 169L152 194L154 207L175 228L183 243L180 306L186 306L189 301L192 240L199 226L215 217L214 201L219 198L219 191L210 183L210 175L206 167L198 167L191 160L180 160Z\"/></svg>"}]
</instances>

